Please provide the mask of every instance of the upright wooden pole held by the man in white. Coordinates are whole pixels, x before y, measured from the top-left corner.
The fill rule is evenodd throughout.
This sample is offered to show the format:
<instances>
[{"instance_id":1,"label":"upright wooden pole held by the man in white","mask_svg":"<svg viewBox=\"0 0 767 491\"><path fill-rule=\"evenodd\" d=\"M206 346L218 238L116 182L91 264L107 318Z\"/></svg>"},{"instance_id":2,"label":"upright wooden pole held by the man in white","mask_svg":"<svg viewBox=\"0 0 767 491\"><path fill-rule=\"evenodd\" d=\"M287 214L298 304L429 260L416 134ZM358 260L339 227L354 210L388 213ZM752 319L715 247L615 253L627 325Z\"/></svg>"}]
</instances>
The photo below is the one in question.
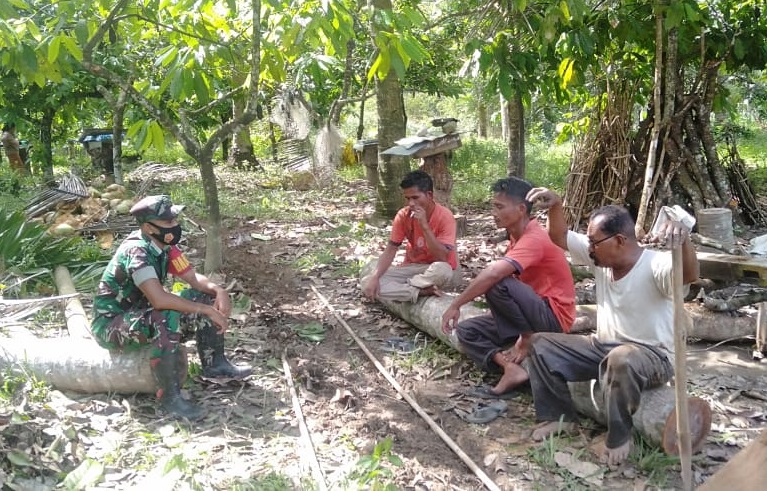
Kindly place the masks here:
<instances>
[{"instance_id":1,"label":"upright wooden pole held by the man in white","mask_svg":"<svg viewBox=\"0 0 767 491\"><path fill-rule=\"evenodd\" d=\"M674 378L676 388L676 432L679 458L682 463L682 485L693 490L692 444L687 408L687 316L684 310L684 279L682 275L682 246L671 250L672 285L674 288Z\"/></svg>"}]
</instances>

